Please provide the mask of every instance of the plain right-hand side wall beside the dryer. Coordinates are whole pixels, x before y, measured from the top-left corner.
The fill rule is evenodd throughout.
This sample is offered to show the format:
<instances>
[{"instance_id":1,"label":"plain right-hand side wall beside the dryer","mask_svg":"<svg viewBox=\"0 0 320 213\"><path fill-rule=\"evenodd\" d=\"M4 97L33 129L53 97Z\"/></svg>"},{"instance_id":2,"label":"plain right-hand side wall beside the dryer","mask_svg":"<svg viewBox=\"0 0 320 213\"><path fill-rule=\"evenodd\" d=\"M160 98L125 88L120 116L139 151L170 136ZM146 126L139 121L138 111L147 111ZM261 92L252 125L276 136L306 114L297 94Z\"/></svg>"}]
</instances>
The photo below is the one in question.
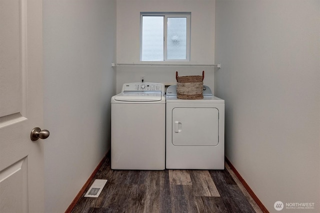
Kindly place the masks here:
<instances>
[{"instance_id":1,"label":"plain right-hand side wall beside the dryer","mask_svg":"<svg viewBox=\"0 0 320 213\"><path fill-rule=\"evenodd\" d=\"M225 154L270 212L319 212L319 1L217 0Z\"/></svg>"}]
</instances>

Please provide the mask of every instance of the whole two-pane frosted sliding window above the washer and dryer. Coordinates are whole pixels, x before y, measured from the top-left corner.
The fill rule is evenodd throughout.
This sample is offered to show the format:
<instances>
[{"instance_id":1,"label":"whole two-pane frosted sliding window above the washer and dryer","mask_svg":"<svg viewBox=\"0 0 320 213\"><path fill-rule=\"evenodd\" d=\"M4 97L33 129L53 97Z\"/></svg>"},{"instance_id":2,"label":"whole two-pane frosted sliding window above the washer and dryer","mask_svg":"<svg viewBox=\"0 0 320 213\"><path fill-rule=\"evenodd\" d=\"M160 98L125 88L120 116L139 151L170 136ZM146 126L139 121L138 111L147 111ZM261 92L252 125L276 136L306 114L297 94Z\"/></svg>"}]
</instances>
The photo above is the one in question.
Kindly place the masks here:
<instances>
[{"instance_id":1,"label":"whole two-pane frosted sliding window above the washer and dryer","mask_svg":"<svg viewBox=\"0 0 320 213\"><path fill-rule=\"evenodd\" d=\"M141 61L188 61L190 12L141 12Z\"/></svg>"}]
</instances>

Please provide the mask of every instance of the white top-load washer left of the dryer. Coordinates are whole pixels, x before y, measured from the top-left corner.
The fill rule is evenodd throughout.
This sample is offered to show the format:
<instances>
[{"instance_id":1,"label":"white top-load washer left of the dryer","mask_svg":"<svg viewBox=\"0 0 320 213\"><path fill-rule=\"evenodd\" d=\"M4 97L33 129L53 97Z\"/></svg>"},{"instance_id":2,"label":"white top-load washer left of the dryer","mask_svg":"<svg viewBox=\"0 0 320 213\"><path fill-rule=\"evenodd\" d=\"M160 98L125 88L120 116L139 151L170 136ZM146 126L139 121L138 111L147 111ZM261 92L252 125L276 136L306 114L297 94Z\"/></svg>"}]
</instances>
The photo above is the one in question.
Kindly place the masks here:
<instances>
[{"instance_id":1,"label":"white top-load washer left of the dryer","mask_svg":"<svg viewBox=\"0 0 320 213\"><path fill-rule=\"evenodd\" d=\"M111 98L111 169L165 169L163 84L126 83Z\"/></svg>"}]
</instances>

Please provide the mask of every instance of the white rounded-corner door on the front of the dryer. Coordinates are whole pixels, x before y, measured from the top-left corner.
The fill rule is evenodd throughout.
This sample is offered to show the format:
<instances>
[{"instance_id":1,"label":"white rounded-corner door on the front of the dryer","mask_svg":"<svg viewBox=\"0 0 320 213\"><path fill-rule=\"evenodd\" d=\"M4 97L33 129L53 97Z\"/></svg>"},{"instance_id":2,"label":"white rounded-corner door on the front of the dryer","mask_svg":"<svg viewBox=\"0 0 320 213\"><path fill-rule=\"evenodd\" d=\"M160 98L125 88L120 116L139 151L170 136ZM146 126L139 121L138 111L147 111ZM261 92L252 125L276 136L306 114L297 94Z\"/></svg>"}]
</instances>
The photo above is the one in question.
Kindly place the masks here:
<instances>
[{"instance_id":1,"label":"white rounded-corner door on the front of the dryer","mask_svg":"<svg viewBox=\"0 0 320 213\"><path fill-rule=\"evenodd\" d=\"M218 145L217 108L174 108L172 144L174 146Z\"/></svg>"}]
</instances>

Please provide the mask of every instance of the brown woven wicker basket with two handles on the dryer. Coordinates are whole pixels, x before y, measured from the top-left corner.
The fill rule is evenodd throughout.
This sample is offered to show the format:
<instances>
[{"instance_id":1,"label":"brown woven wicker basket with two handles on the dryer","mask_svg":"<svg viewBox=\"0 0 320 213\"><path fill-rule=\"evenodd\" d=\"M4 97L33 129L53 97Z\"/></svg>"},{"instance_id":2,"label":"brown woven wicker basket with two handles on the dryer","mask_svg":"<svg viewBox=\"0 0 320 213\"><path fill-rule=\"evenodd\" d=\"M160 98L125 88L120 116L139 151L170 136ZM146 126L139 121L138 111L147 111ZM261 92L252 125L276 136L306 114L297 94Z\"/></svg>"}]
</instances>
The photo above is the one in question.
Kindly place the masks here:
<instances>
[{"instance_id":1,"label":"brown woven wicker basket with two handles on the dryer","mask_svg":"<svg viewBox=\"0 0 320 213\"><path fill-rule=\"evenodd\" d=\"M176 79L176 97L179 99L202 99L204 71L201 75L178 76L175 72Z\"/></svg>"}]
</instances>

